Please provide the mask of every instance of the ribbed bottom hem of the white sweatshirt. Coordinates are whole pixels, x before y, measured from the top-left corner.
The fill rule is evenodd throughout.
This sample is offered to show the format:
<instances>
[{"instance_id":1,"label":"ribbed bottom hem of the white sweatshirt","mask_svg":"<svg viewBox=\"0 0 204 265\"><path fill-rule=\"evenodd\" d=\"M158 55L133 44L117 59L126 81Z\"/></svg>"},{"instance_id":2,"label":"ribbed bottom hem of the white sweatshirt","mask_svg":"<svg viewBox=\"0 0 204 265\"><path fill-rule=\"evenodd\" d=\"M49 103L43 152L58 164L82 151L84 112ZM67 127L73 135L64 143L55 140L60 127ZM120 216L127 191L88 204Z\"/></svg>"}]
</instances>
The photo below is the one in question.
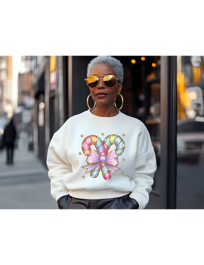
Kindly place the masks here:
<instances>
[{"instance_id":1,"label":"ribbed bottom hem of the white sweatshirt","mask_svg":"<svg viewBox=\"0 0 204 265\"><path fill-rule=\"evenodd\" d=\"M83 200L105 200L105 199L113 199L113 198L121 198L130 194L129 192L121 192L121 191L111 191L111 190L72 190L70 191L70 196L76 199Z\"/></svg>"}]
</instances>

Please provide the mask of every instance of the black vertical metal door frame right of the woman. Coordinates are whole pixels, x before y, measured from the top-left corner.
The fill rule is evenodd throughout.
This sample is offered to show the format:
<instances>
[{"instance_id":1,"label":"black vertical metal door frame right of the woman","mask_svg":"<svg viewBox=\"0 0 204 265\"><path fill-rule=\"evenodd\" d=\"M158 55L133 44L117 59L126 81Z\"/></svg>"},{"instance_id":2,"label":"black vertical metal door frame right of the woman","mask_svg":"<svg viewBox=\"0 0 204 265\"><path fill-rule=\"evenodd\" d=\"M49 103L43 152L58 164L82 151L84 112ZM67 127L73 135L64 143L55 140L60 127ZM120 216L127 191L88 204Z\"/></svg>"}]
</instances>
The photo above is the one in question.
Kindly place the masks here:
<instances>
[{"instance_id":1,"label":"black vertical metal door frame right of the woman","mask_svg":"<svg viewBox=\"0 0 204 265\"><path fill-rule=\"evenodd\" d=\"M161 55L161 200L176 211L177 194L177 54Z\"/></svg>"}]
</instances>

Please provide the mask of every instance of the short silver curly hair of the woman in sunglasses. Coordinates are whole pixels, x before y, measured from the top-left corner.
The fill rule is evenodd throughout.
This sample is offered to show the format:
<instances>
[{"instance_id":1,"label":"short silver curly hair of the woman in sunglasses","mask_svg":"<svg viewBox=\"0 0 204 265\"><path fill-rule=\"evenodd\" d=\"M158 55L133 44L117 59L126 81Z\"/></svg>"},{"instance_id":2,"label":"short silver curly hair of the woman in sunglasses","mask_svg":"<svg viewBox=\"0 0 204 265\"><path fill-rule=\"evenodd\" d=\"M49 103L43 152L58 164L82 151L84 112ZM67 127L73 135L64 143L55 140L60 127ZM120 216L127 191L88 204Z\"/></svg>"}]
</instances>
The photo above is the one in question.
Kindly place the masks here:
<instances>
[{"instance_id":1,"label":"short silver curly hair of the woman in sunglasses","mask_svg":"<svg viewBox=\"0 0 204 265\"><path fill-rule=\"evenodd\" d=\"M120 83L123 83L124 79L124 66L120 60L111 57L110 54L99 54L98 57L92 59L87 67L87 77L90 76L91 70L97 63L107 63L113 68L116 77L119 79Z\"/></svg>"}]
</instances>

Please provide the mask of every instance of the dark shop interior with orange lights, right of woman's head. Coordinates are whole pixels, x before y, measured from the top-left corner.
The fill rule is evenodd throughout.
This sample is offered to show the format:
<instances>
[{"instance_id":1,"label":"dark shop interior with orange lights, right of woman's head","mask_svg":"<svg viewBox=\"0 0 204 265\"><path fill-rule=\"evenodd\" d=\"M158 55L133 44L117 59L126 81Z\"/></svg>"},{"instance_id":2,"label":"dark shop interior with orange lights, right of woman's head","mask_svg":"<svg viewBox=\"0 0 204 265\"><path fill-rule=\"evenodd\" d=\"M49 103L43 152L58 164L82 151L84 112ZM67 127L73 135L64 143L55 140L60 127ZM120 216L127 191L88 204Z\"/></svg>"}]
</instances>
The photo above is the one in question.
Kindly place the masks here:
<instances>
[{"instance_id":1,"label":"dark shop interior with orange lights, right of woman's head","mask_svg":"<svg viewBox=\"0 0 204 265\"><path fill-rule=\"evenodd\" d=\"M113 54L124 64L124 114L140 119L148 128L160 157L160 54ZM117 103L120 106L121 102Z\"/></svg>"}]
</instances>

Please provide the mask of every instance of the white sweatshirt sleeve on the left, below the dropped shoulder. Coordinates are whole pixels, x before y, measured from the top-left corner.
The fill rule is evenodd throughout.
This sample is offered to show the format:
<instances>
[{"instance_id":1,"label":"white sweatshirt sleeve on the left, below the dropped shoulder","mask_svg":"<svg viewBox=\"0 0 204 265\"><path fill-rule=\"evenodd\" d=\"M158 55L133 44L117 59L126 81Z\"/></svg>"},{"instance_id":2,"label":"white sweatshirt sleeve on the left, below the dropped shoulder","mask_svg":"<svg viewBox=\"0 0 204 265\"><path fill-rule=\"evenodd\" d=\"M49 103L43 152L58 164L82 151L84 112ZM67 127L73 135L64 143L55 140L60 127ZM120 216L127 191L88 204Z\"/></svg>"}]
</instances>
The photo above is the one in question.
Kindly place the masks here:
<instances>
[{"instance_id":1,"label":"white sweatshirt sleeve on the left, below the dropped shoulder","mask_svg":"<svg viewBox=\"0 0 204 265\"><path fill-rule=\"evenodd\" d=\"M72 173L72 165L64 160L62 147L53 136L48 149L47 165L49 168L48 176L51 179L51 196L56 201L69 195L69 190L64 185L62 177Z\"/></svg>"}]
</instances>

